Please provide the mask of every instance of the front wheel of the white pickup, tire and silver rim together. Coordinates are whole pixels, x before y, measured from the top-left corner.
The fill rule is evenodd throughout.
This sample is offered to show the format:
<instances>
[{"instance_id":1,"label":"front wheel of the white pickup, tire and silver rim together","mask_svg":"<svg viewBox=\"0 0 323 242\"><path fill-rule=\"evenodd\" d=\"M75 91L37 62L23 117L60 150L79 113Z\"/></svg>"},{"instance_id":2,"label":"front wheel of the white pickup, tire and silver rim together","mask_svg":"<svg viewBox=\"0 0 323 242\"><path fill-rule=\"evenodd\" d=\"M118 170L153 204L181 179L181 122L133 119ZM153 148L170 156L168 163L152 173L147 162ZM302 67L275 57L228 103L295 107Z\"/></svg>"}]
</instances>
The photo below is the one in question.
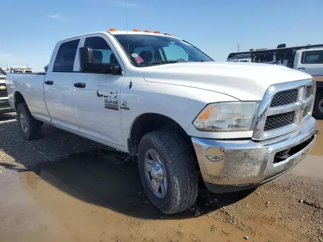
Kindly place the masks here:
<instances>
[{"instance_id":1,"label":"front wheel of the white pickup, tire and silver rim together","mask_svg":"<svg viewBox=\"0 0 323 242\"><path fill-rule=\"evenodd\" d=\"M138 166L150 202L173 214L191 207L198 194L198 169L185 141L168 130L144 135L139 144Z\"/></svg>"}]
</instances>

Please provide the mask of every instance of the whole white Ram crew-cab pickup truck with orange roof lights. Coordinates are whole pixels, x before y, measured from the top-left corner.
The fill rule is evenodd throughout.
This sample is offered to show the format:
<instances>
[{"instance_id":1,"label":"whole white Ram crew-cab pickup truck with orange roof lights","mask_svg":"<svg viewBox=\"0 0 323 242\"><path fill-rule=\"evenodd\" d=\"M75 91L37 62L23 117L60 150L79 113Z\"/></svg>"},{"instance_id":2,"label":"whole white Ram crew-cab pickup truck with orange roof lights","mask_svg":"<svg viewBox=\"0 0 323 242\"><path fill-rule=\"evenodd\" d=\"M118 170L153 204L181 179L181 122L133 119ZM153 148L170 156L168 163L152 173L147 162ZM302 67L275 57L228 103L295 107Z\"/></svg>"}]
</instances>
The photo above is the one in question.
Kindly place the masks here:
<instances>
[{"instance_id":1,"label":"whole white Ram crew-cab pickup truck with orange roof lights","mask_svg":"<svg viewBox=\"0 0 323 242\"><path fill-rule=\"evenodd\" d=\"M46 123L128 152L166 214L194 204L200 177L215 193L252 189L293 168L315 142L310 75L213 62L165 34L69 38L46 73L9 74L6 84L26 139Z\"/></svg>"}]
</instances>

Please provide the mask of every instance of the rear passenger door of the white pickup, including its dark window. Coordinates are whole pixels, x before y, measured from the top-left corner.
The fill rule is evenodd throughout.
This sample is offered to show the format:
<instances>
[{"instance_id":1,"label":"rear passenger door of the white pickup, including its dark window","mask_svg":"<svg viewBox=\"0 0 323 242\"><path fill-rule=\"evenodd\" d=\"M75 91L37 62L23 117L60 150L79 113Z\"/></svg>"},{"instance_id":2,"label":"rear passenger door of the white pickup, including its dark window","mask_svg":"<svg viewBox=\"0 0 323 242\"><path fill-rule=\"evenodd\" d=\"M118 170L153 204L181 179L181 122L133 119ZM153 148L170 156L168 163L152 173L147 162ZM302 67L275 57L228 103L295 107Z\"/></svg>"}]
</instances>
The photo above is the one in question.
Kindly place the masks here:
<instances>
[{"instance_id":1,"label":"rear passenger door of the white pickup, including its dark window","mask_svg":"<svg viewBox=\"0 0 323 242\"><path fill-rule=\"evenodd\" d=\"M75 57L80 38L60 42L51 57L45 76L44 95L51 123L69 130L78 130L73 104Z\"/></svg>"}]
</instances>

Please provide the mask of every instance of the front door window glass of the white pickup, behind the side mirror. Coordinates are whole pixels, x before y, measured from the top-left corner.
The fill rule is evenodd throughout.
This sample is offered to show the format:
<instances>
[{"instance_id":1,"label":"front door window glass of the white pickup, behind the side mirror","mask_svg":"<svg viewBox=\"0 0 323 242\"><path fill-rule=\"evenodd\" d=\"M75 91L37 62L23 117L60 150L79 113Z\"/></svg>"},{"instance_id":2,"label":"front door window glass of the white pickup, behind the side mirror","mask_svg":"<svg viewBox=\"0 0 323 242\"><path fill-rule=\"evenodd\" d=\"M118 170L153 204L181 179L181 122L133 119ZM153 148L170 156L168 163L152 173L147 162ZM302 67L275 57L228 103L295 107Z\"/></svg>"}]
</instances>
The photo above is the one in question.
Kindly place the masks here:
<instances>
[{"instance_id":1,"label":"front door window glass of the white pickup, behind the side mirror","mask_svg":"<svg viewBox=\"0 0 323 242\"><path fill-rule=\"evenodd\" d=\"M90 47L93 49L95 63L118 63L116 56L109 44L107 44L106 41L101 37L95 36L86 38L84 47Z\"/></svg>"}]
</instances>

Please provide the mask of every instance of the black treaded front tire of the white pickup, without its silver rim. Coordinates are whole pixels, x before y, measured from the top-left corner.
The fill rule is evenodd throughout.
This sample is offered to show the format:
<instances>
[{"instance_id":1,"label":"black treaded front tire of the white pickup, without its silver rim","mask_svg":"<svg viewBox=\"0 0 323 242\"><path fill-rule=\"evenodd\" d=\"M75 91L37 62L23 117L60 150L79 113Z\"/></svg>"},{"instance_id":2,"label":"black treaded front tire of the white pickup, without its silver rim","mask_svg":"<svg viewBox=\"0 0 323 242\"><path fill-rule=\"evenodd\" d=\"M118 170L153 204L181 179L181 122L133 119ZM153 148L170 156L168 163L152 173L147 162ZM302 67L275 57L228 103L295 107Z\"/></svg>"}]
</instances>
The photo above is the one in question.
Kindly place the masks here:
<instances>
[{"instance_id":1,"label":"black treaded front tire of the white pickup, without its silver rim","mask_svg":"<svg viewBox=\"0 0 323 242\"><path fill-rule=\"evenodd\" d=\"M157 198L146 179L144 156L154 149L163 161L167 173L167 193ZM190 208L198 194L198 167L195 154L178 135L169 130L156 130L144 135L139 144L138 166L143 188L150 202L165 214L174 214Z\"/></svg>"}]
</instances>

